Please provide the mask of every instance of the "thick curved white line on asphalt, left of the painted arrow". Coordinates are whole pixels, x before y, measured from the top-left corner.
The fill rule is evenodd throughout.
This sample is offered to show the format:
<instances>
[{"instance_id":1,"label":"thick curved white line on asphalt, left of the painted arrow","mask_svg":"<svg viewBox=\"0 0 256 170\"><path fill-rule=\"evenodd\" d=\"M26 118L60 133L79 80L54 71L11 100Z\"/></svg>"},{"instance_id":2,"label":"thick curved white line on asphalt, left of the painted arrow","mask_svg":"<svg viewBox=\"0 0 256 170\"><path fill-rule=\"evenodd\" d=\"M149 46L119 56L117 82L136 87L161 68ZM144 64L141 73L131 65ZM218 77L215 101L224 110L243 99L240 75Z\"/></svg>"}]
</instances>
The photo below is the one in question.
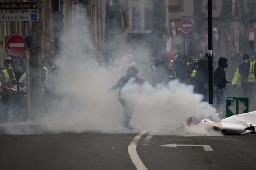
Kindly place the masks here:
<instances>
[{"instance_id":1,"label":"thick curved white line on asphalt, left of the painted arrow","mask_svg":"<svg viewBox=\"0 0 256 170\"><path fill-rule=\"evenodd\" d=\"M137 143L139 142L140 138L146 133L148 132L147 130L144 130L143 132L137 134L137 136L135 136L132 140L132 142L130 142L129 146L128 146L128 153L130 155L130 158L132 159L133 164L135 165L135 167L137 168L137 170L148 170L145 165L143 164L143 162L141 161L141 159L139 158L139 155L136 151L136 147L137 147Z\"/></svg>"}]
</instances>

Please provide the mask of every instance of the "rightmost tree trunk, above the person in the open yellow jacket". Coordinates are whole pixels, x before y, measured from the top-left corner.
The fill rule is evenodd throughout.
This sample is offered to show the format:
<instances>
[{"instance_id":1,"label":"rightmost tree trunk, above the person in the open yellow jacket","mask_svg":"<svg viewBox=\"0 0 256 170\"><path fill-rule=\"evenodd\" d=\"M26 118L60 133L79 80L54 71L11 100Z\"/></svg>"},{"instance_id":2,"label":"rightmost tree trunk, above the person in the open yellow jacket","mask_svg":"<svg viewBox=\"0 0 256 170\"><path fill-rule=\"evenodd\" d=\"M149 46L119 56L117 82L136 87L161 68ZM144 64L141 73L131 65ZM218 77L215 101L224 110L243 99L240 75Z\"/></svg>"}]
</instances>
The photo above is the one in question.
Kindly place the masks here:
<instances>
[{"instance_id":1,"label":"rightmost tree trunk, above the person in the open yellow jacket","mask_svg":"<svg viewBox=\"0 0 256 170\"><path fill-rule=\"evenodd\" d=\"M249 53L249 9L247 0L237 0L236 8L239 16L239 51Z\"/></svg>"}]
</instances>

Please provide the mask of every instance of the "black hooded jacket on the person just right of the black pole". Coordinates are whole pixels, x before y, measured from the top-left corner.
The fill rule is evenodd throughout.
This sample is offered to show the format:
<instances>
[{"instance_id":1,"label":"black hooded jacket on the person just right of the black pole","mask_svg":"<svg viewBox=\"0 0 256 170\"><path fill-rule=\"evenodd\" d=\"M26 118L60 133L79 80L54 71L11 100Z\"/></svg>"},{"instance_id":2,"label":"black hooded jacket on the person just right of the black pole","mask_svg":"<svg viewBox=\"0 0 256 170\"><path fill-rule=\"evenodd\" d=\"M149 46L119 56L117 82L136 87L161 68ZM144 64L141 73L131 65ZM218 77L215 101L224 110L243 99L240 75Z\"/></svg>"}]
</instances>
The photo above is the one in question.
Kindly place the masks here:
<instances>
[{"instance_id":1,"label":"black hooded jacket on the person just right of the black pole","mask_svg":"<svg viewBox=\"0 0 256 170\"><path fill-rule=\"evenodd\" d=\"M221 89L226 87L225 64L228 61L226 58L219 58L218 67L213 74L213 85Z\"/></svg>"}]
</instances>

